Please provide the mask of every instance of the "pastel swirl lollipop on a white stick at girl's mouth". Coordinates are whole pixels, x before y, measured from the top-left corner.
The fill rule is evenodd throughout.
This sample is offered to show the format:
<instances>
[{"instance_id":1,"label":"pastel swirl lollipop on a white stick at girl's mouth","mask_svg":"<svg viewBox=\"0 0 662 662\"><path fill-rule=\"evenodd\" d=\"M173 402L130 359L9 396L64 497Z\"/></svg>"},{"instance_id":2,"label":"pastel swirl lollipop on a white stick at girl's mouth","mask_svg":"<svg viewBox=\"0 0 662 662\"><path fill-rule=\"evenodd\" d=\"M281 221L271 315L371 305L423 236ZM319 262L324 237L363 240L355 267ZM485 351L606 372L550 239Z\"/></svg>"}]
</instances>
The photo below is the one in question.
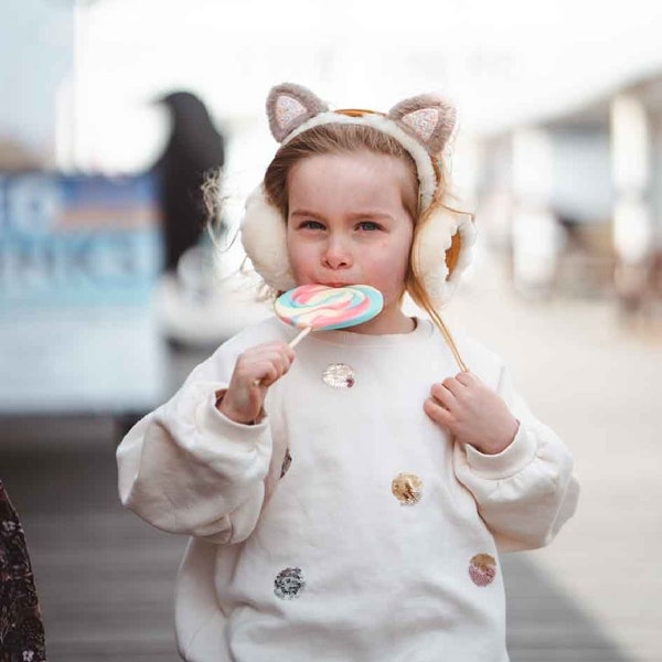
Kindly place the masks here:
<instances>
[{"instance_id":1,"label":"pastel swirl lollipop on a white stick at girl's mouth","mask_svg":"<svg viewBox=\"0 0 662 662\"><path fill-rule=\"evenodd\" d=\"M280 295L274 309L288 324L302 329L293 348L310 331L346 329L372 320L384 307L382 292L370 285L301 285Z\"/></svg>"}]
</instances>

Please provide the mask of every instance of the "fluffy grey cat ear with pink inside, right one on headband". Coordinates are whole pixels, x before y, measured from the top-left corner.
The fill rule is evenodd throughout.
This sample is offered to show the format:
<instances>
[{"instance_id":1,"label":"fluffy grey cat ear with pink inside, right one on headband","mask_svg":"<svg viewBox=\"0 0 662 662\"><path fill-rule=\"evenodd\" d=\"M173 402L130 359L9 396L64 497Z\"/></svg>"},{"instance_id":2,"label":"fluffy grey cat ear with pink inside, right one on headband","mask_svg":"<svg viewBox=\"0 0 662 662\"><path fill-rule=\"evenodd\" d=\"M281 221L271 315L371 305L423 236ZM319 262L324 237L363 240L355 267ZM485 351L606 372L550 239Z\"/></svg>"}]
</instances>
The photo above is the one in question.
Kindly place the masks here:
<instances>
[{"instance_id":1,"label":"fluffy grey cat ear with pink inside, right one on headband","mask_svg":"<svg viewBox=\"0 0 662 662\"><path fill-rule=\"evenodd\" d=\"M439 154L455 128L456 109L438 96L423 94L395 105L388 118L414 136L428 152Z\"/></svg>"}]
</instances>

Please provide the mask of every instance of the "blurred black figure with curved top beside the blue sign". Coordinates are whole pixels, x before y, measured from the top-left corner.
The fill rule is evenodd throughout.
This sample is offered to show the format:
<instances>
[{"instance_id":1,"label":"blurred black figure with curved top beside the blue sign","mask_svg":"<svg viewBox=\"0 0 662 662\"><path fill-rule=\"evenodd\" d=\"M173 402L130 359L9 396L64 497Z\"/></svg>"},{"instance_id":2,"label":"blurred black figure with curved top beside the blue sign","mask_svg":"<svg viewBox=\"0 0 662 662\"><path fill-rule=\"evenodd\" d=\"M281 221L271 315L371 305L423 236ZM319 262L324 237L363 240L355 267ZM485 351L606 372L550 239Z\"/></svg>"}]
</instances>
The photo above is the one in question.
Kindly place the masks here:
<instances>
[{"instance_id":1,"label":"blurred black figure with curved top beside the blue sign","mask_svg":"<svg viewBox=\"0 0 662 662\"><path fill-rule=\"evenodd\" d=\"M197 244L207 222L202 185L205 174L223 167L224 138L205 105L189 92L161 98L171 115L172 130L163 154L154 163L162 186L166 270Z\"/></svg>"}]
</instances>

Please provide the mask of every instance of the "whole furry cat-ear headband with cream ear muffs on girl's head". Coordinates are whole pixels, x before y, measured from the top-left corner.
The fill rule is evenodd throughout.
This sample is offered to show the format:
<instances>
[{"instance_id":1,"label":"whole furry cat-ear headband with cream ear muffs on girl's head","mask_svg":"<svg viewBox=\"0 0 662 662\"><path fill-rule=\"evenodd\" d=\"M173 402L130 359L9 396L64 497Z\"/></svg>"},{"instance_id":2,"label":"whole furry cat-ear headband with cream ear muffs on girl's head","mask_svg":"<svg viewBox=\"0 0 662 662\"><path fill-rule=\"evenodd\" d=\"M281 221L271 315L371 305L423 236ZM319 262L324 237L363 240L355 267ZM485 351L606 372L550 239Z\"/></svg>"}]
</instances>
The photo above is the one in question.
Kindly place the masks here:
<instances>
[{"instance_id":1,"label":"whole furry cat-ear headband with cream ear muffs on girl's head","mask_svg":"<svg viewBox=\"0 0 662 662\"><path fill-rule=\"evenodd\" d=\"M476 241L470 215L446 206L437 206L426 214L437 189L435 160L455 128L455 108L436 96L419 95L401 102L388 115L333 111L307 88L282 84L270 90L267 115L274 137L284 145L325 124L372 126L403 145L416 163L423 223L415 233L412 266L435 306L446 303L471 261ZM287 256L286 222L261 185L249 195L241 226L242 243L255 270L276 290L288 290L296 285ZM457 259L450 260L453 237L459 248Z\"/></svg>"}]
</instances>

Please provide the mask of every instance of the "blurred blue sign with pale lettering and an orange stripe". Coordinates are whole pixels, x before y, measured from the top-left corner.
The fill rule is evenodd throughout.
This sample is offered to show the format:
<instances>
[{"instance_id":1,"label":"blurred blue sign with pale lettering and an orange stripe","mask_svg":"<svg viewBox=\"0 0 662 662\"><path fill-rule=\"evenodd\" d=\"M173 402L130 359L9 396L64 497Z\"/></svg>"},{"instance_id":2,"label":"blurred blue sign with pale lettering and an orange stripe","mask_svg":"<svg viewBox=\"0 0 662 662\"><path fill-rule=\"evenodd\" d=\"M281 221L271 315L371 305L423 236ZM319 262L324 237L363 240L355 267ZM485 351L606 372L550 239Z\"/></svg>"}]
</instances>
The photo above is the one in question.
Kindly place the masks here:
<instances>
[{"instance_id":1,"label":"blurred blue sign with pale lettering and an orange stripe","mask_svg":"<svg viewBox=\"0 0 662 662\"><path fill-rule=\"evenodd\" d=\"M150 175L0 175L0 310L147 305L163 259Z\"/></svg>"}]
</instances>

